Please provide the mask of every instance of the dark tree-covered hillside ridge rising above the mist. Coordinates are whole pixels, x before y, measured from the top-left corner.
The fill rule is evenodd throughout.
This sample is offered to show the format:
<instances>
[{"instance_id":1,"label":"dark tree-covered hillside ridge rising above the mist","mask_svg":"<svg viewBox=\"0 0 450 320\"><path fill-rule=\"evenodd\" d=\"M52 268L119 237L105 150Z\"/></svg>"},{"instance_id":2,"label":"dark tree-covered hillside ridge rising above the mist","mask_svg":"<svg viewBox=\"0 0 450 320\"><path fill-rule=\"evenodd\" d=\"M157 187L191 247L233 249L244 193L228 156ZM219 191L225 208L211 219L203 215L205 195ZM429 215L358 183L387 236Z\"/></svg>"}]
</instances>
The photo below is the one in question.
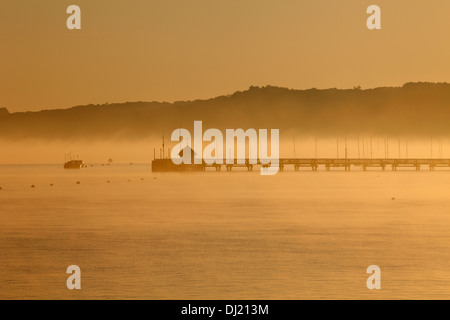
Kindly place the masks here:
<instances>
[{"instance_id":1,"label":"dark tree-covered hillside ridge rising above the mist","mask_svg":"<svg viewBox=\"0 0 450 320\"><path fill-rule=\"evenodd\" d=\"M1 111L0 111L1 112ZM250 87L209 100L130 102L0 117L5 139L135 139L166 136L174 129L279 128L313 135L450 134L450 84L352 90Z\"/></svg>"}]
</instances>

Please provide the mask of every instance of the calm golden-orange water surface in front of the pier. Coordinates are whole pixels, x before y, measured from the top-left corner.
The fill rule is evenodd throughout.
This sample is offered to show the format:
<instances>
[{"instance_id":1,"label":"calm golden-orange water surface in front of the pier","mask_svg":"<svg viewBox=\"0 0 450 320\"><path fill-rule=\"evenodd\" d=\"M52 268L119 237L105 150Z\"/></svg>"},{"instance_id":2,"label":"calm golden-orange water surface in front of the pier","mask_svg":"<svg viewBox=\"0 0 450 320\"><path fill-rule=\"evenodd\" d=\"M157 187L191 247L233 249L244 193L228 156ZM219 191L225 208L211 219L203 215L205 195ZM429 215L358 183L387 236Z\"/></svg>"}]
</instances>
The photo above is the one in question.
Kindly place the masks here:
<instances>
[{"instance_id":1,"label":"calm golden-orange water surface in front of the pier","mask_svg":"<svg viewBox=\"0 0 450 320\"><path fill-rule=\"evenodd\" d=\"M1 166L0 298L448 299L449 182ZM72 264L79 291L66 288ZM373 264L380 291L366 287Z\"/></svg>"}]
</instances>

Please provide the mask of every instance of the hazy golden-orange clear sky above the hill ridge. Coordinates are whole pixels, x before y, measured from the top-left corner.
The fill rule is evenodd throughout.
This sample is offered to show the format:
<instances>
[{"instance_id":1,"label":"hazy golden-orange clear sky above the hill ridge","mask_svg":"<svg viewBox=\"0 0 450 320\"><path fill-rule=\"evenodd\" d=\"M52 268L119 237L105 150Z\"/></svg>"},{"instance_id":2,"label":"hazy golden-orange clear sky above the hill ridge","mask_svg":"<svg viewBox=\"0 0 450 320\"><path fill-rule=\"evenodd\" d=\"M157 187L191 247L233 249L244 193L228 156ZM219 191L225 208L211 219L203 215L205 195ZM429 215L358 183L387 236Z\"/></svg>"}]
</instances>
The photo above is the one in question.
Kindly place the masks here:
<instances>
[{"instance_id":1,"label":"hazy golden-orange clear sky above the hill ridge","mask_svg":"<svg viewBox=\"0 0 450 320\"><path fill-rule=\"evenodd\" d=\"M66 8L82 30L66 28ZM382 30L366 9L382 10ZM10 111L450 80L448 0L2 0Z\"/></svg>"}]
</instances>

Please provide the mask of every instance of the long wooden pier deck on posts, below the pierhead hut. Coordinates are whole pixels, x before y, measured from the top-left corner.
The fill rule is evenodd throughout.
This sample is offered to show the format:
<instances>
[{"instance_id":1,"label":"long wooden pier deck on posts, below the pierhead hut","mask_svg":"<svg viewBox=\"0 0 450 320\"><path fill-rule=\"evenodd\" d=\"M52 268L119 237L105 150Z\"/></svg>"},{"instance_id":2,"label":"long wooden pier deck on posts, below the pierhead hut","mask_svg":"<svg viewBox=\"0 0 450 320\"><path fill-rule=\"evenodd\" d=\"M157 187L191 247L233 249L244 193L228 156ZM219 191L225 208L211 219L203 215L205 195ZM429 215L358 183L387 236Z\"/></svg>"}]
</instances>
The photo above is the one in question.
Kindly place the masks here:
<instances>
[{"instance_id":1,"label":"long wooden pier deck on posts, below the pierhead hut","mask_svg":"<svg viewBox=\"0 0 450 320\"><path fill-rule=\"evenodd\" d=\"M398 168L412 168L416 171L434 171L436 168L450 168L450 159L281 158L272 161L269 165L263 165L259 160L250 161L249 159L234 159L233 163L227 163L226 159L224 159L223 164L207 164L203 161L202 164L181 165L175 165L171 159L155 159L152 162L152 171L205 171L207 168L214 168L216 171L221 171L222 167L227 171L232 171L233 168L246 168L248 171L253 171L255 166L262 166L264 168L269 167L270 165L278 166L280 171L283 171L288 167L293 168L295 171L299 171L301 168L308 168L312 171L318 171L320 168L325 171L336 168L343 168L345 171L351 171L352 169L367 171L368 168L379 168L382 171L397 171Z\"/></svg>"}]
</instances>

